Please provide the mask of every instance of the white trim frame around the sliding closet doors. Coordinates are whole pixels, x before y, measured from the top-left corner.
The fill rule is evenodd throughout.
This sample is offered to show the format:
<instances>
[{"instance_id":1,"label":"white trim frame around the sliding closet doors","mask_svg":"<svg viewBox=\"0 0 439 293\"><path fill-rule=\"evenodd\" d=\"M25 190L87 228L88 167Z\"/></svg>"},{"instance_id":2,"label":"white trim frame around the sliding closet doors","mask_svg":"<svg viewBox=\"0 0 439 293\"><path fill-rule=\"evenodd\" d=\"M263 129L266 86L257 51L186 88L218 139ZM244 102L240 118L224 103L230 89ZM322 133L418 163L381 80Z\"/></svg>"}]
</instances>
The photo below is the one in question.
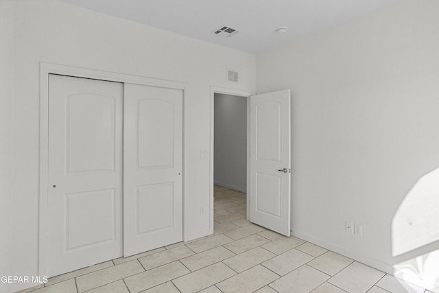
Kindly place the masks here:
<instances>
[{"instance_id":1,"label":"white trim frame around the sliding closet doors","mask_svg":"<svg viewBox=\"0 0 439 293\"><path fill-rule=\"evenodd\" d=\"M49 139L49 74L68 75L76 78L89 78L94 80L104 80L109 82L121 82L131 84L142 84L147 86L159 86L169 89L180 89L183 91L183 241L187 241L187 227L185 226L187 209L188 187L188 166L186 164L189 158L187 148L188 138L186 133L187 124L187 96L189 86L186 82L176 82L172 80L161 80L148 78L139 75L130 75L125 73L115 73L97 69L87 69L81 67L71 67L68 65L58 65L48 62L40 62L40 160L39 160L39 235L38 235L38 274L45 276L47 265L47 192L48 183L48 139ZM123 218L123 216L122 216ZM110 260L110 259L108 259Z\"/></svg>"}]
</instances>

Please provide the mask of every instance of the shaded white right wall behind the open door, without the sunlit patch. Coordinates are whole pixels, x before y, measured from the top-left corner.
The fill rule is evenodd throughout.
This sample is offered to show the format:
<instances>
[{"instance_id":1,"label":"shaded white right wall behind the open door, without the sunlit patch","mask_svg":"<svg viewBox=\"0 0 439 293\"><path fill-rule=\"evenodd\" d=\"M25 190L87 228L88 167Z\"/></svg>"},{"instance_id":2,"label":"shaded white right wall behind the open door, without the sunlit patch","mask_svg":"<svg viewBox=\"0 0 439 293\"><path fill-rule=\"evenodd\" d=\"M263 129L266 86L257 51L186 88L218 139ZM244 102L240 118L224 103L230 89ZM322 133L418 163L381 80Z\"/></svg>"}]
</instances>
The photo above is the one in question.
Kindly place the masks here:
<instances>
[{"instance_id":1,"label":"shaded white right wall behind the open door, without the sunlit patch","mask_svg":"<svg viewBox=\"0 0 439 293\"><path fill-rule=\"evenodd\" d=\"M292 89L294 235L386 272L401 260L394 213L439 166L438 14L398 1L257 56L257 93Z\"/></svg>"}]
</instances>

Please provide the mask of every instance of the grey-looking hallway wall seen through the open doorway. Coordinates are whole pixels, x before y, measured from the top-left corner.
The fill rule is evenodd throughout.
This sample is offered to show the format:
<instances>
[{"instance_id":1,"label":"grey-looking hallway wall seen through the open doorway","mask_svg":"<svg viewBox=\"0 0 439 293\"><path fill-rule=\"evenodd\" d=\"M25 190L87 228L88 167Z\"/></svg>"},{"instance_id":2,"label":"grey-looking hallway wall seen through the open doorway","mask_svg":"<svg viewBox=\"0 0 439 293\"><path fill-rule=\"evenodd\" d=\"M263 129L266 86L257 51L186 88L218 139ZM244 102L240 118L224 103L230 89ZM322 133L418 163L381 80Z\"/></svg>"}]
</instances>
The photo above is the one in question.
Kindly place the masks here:
<instances>
[{"instance_id":1,"label":"grey-looking hallway wall seen through the open doorway","mask_svg":"<svg viewBox=\"0 0 439 293\"><path fill-rule=\"evenodd\" d=\"M215 93L215 184L247 190L247 98Z\"/></svg>"}]
</instances>

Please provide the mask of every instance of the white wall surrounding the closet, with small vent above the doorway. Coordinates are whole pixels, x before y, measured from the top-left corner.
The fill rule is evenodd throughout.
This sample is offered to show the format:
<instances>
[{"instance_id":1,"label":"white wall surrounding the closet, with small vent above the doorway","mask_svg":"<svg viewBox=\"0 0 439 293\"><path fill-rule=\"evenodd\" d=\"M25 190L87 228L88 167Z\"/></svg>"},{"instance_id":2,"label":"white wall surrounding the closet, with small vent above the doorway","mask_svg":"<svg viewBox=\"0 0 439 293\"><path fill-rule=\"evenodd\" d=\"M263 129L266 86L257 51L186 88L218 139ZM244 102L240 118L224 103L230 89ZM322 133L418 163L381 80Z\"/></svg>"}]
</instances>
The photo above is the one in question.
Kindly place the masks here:
<instances>
[{"instance_id":1,"label":"white wall surrounding the closet, with small vent above the doorway","mask_svg":"<svg viewBox=\"0 0 439 293\"><path fill-rule=\"evenodd\" d=\"M254 91L255 57L55 0L15 1L15 95L10 212L14 263L8 274L38 273L39 62L187 82L189 236L209 231L210 88ZM226 82L226 68L241 73ZM11 176L11 175L10 175ZM16 290L17 288L14 288Z\"/></svg>"}]
</instances>

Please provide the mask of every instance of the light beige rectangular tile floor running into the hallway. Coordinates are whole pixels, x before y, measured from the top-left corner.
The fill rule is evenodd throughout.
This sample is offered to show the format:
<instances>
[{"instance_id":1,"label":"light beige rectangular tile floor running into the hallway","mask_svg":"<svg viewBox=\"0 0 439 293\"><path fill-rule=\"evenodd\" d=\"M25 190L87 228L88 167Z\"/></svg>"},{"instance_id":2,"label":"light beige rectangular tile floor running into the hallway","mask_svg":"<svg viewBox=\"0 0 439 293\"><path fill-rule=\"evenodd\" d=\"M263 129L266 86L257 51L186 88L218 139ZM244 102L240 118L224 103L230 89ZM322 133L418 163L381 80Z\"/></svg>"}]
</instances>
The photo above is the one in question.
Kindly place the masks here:
<instances>
[{"instance_id":1,"label":"light beige rectangular tile floor running into the hallway","mask_svg":"<svg viewBox=\"0 0 439 293\"><path fill-rule=\"evenodd\" d=\"M215 186L215 233L49 279L22 292L427 293L246 220L246 194Z\"/></svg>"}]
</instances>

